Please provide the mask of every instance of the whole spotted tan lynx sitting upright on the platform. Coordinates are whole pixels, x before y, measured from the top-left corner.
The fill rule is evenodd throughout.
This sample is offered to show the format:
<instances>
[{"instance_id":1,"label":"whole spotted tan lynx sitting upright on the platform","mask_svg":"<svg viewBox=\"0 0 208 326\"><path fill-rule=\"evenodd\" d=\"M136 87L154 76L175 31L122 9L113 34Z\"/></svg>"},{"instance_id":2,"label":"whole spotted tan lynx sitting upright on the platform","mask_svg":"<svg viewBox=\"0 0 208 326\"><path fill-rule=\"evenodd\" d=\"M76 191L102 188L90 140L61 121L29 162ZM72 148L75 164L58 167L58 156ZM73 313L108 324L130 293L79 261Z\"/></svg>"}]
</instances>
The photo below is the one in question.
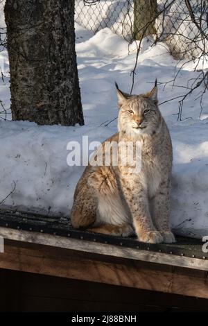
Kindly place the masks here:
<instances>
[{"instance_id":1,"label":"whole spotted tan lynx sitting upright on the platform","mask_svg":"<svg viewBox=\"0 0 208 326\"><path fill-rule=\"evenodd\" d=\"M169 221L172 146L157 106L157 80L146 94L125 94L118 85L116 89L119 132L106 141L132 141L134 146L140 141L141 171L135 174L128 164L89 162L76 186L71 223L123 237L136 232L139 241L147 243L175 242Z\"/></svg>"}]
</instances>

